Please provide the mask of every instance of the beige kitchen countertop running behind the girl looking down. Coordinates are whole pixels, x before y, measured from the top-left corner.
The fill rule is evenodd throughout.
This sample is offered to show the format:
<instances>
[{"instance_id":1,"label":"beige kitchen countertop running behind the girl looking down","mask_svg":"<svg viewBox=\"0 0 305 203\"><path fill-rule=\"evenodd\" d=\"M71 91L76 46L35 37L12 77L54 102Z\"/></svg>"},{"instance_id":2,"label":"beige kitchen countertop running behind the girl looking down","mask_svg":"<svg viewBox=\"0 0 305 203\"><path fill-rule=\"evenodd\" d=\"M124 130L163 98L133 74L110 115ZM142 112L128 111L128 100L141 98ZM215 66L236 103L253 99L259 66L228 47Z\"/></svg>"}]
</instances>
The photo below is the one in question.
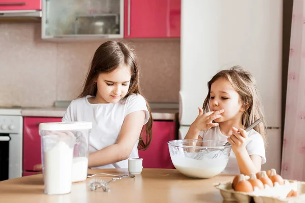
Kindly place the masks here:
<instances>
[{"instance_id":1,"label":"beige kitchen countertop running behind the girl looking down","mask_svg":"<svg viewBox=\"0 0 305 203\"><path fill-rule=\"evenodd\" d=\"M22 116L35 117L63 117L67 108L22 108ZM178 109L151 109L151 116L154 120L175 120L178 116Z\"/></svg>"}]
</instances>

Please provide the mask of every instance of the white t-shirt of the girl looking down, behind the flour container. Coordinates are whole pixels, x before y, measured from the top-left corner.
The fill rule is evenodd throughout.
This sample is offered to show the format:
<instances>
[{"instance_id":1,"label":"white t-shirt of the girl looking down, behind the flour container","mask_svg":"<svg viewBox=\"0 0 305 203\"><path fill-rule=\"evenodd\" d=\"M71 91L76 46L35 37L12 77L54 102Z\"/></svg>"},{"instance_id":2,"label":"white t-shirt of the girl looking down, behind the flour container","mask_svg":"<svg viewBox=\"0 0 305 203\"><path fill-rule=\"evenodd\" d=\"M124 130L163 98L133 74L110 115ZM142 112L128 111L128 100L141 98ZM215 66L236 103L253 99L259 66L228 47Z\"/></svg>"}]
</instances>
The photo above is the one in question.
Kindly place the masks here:
<instances>
[{"instance_id":1,"label":"white t-shirt of the girl looking down, behind the flour container","mask_svg":"<svg viewBox=\"0 0 305 203\"><path fill-rule=\"evenodd\" d=\"M144 124L149 119L146 102L140 94L132 94L125 98L125 102L108 104L90 104L86 96L72 100L62 121L87 121L92 122L92 130L89 135L89 154L113 145L117 142L118 134L123 125L125 117L135 111L145 111ZM125 103L125 104L124 104ZM130 157L139 157L139 141L130 154ZM93 168L128 168L128 160L111 163Z\"/></svg>"}]
</instances>

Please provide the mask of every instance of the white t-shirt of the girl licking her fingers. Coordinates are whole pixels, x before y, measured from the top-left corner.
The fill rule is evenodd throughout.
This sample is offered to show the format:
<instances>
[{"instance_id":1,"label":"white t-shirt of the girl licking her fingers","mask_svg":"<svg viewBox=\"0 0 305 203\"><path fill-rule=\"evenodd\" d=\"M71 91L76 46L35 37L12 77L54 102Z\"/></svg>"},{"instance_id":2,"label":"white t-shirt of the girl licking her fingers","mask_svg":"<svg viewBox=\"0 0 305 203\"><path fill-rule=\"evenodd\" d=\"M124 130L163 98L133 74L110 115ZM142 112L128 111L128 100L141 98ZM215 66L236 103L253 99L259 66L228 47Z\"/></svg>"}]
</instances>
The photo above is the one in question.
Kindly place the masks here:
<instances>
[{"instance_id":1,"label":"white t-shirt of the girl licking her fingers","mask_svg":"<svg viewBox=\"0 0 305 203\"><path fill-rule=\"evenodd\" d=\"M213 127L209 130L201 131L199 135L204 140L228 142L228 136L225 136L223 133L221 133L219 126ZM255 131L254 129L248 132L246 150L249 156L250 155L261 156L262 164L266 162L265 146L264 146L263 138L261 134ZM234 174L234 175L240 174L236 156L233 150L231 150L228 164L222 173Z\"/></svg>"}]
</instances>

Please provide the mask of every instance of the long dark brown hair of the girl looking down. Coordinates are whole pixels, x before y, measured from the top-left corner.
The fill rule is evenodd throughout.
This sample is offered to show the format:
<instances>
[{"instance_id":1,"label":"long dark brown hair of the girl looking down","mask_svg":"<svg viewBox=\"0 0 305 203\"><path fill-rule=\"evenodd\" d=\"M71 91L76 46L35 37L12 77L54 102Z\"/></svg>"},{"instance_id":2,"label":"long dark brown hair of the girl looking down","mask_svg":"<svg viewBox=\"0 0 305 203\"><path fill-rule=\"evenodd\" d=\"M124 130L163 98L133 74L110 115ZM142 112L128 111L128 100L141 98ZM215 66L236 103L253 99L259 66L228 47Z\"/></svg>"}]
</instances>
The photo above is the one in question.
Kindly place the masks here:
<instances>
[{"instance_id":1,"label":"long dark brown hair of the girl looking down","mask_svg":"<svg viewBox=\"0 0 305 203\"><path fill-rule=\"evenodd\" d=\"M97 84L95 83L96 78L100 73L110 73L117 69L121 64L126 64L131 69L131 79L128 89L128 93L124 98L127 98L131 94L141 94L139 85L139 70L136 62L136 55L134 50L129 48L126 44L117 41L107 41L100 45L96 50L90 69L88 71L86 80L83 85L83 90L79 97L85 97L87 95L97 95ZM143 95L142 95L143 96ZM121 101L124 99L122 98ZM145 99L146 100L146 99ZM138 144L138 149L146 150L152 139L152 126L153 118L151 117L151 110L146 100L146 106L149 112L149 120L145 124L145 128L142 128L141 137ZM143 139L143 135L145 138Z\"/></svg>"}]
</instances>

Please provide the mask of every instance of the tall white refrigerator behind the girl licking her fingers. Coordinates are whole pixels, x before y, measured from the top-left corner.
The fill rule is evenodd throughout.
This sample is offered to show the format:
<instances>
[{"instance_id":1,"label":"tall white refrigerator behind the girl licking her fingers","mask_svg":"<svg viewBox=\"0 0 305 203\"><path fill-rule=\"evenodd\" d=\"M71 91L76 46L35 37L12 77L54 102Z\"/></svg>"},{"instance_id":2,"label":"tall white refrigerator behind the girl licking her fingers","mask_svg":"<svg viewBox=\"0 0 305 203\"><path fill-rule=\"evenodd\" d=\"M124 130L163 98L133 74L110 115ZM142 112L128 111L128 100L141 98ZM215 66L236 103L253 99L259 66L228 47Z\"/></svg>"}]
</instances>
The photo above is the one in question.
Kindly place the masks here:
<instances>
[{"instance_id":1,"label":"tall white refrigerator behind the girl licking her fingers","mask_svg":"<svg viewBox=\"0 0 305 203\"><path fill-rule=\"evenodd\" d=\"M262 170L281 170L282 17L280 0L182 0L179 139L203 106L207 82L242 65L255 77L267 124Z\"/></svg>"}]
</instances>

